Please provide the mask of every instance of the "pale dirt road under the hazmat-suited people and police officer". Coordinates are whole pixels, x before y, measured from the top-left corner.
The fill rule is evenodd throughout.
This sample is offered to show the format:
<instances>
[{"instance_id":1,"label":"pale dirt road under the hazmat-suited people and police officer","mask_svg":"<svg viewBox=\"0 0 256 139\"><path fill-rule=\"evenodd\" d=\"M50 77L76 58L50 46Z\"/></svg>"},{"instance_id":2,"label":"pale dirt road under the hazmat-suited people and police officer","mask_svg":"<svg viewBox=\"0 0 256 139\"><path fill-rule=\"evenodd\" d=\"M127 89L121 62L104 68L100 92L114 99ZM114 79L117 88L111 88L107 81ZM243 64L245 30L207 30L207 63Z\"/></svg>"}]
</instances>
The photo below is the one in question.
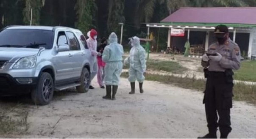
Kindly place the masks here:
<instances>
[{"instance_id":1,"label":"pale dirt road under the hazmat-suited people and police officer","mask_svg":"<svg viewBox=\"0 0 256 139\"><path fill-rule=\"evenodd\" d=\"M128 95L122 79L117 101L105 90L67 93L48 106L29 106L29 134L22 138L196 138L207 133L203 94L157 82ZM96 81L93 82L95 87ZM256 137L256 107L234 102L230 138Z\"/></svg>"}]
</instances>

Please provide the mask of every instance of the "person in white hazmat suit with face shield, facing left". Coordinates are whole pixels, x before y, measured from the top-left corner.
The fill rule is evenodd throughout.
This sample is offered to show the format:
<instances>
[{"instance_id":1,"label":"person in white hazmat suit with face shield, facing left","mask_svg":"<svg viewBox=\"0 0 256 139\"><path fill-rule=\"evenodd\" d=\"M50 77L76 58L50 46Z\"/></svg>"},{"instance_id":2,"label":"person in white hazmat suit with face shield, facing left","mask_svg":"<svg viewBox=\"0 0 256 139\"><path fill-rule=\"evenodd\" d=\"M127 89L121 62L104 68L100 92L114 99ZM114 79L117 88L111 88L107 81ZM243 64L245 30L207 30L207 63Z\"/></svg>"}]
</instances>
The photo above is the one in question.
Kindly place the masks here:
<instances>
[{"instance_id":1,"label":"person in white hazmat suit with face shield, facing left","mask_svg":"<svg viewBox=\"0 0 256 139\"><path fill-rule=\"evenodd\" d=\"M143 82L145 80L146 73L146 51L140 45L138 37L132 37L129 44L131 44L131 50L129 57L125 58L124 64L130 64L128 80L131 82L131 92L135 93L135 81L139 82L139 92L144 93Z\"/></svg>"}]
</instances>

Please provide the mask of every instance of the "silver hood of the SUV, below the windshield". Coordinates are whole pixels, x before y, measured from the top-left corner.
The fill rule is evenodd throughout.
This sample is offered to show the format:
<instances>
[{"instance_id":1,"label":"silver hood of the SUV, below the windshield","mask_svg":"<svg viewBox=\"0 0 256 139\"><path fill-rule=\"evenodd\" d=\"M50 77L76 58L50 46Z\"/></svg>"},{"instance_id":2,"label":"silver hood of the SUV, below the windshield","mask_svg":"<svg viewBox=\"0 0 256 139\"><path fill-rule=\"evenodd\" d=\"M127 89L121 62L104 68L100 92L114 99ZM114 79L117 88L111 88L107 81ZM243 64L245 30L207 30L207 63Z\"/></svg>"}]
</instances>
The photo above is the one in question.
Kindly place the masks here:
<instances>
[{"instance_id":1,"label":"silver hood of the SUV, below the windshield","mask_svg":"<svg viewBox=\"0 0 256 139\"><path fill-rule=\"evenodd\" d=\"M21 57L36 55L38 51L30 48L0 48L0 60L14 62Z\"/></svg>"}]
</instances>

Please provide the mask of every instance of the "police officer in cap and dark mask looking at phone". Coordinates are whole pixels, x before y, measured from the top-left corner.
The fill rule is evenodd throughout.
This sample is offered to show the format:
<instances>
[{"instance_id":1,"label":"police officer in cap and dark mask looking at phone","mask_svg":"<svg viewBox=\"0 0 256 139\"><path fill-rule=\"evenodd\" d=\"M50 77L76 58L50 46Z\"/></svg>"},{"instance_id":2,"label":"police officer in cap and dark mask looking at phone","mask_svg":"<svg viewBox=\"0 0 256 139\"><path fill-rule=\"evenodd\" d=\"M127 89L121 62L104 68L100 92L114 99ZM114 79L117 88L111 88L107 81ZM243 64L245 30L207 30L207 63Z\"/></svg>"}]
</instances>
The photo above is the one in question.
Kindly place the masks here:
<instances>
[{"instance_id":1,"label":"police officer in cap and dark mask looking at phone","mask_svg":"<svg viewBox=\"0 0 256 139\"><path fill-rule=\"evenodd\" d=\"M217 42L209 46L201 62L203 67L208 67L204 70L207 81L203 104L205 104L209 134L198 139L217 138L218 127L220 138L225 139L232 130L230 121L234 86L232 70L240 68L240 49L229 38L228 27L225 25L218 25L214 35Z\"/></svg>"}]
</instances>

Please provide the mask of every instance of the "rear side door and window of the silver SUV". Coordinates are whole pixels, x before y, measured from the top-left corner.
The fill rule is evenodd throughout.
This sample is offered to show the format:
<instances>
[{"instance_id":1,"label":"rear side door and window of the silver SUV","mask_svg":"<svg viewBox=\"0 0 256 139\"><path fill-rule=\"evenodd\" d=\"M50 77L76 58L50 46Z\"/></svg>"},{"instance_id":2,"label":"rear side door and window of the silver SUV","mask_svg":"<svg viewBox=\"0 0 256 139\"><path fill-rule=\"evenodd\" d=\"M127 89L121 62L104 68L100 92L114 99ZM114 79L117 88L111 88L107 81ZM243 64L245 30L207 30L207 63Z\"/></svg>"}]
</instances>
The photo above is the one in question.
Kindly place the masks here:
<instances>
[{"instance_id":1,"label":"rear side door and window of the silver SUV","mask_svg":"<svg viewBox=\"0 0 256 139\"><path fill-rule=\"evenodd\" d=\"M76 38L75 34L71 31L66 32L67 38L70 42L70 53L71 63L73 67L72 75L74 77L80 77L82 70L83 70L83 59L84 59L84 52L81 50L80 44L78 39Z\"/></svg>"}]
</instances>

